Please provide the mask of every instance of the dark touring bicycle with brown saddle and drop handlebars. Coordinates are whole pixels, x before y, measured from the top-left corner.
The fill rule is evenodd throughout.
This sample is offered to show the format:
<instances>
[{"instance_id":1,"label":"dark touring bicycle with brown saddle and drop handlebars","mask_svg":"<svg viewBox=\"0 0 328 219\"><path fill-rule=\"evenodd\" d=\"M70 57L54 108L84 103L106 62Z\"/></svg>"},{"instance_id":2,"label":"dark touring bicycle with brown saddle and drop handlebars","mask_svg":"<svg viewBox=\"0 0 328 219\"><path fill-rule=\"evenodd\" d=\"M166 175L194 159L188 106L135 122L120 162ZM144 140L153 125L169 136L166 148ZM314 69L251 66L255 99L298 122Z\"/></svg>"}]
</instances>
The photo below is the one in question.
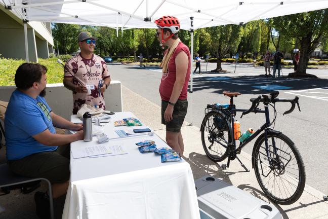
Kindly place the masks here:
<instances>
[{"instance_id":1,"label":"dark touring bicycle with brown saddle and drop handlebars","mask_svg":"<svg viewBox=\"0 0 328 219\"><path fill-rule=\"evenodd\" d=\"M227 164L222 165L222 169L229 167L230 160L237 159L246 171L250 171L237 155L246 144L263 132L254 143L252 152L252 168L254 168L257 181L266 196L273 202L282 205L296 202L305 187L303 159L294 142L282 132L271 129L271 125L275 123L277 116L276 102L292 104L291 108L283 113L285 115L292 113L296 104L301 111L299 98L296 96L294 99L279 99L276 98L279 92L274 91L269 95L263 94L262 97L250 99L252 106L249 109L237 109L233 103L233 97L237 97L240 93L223 91L223 94L230 97L230 104L208 104L204 110L205 117L200 131L202 145L207 156L215 162L228 158ZM263 102L264 110L258 108L260 102ZM269 118L269 106L273 107L274 112L272 122ZM236 146L237 139L234 139L233 134L236 112L242 112L241 117L251 112L264 113L266 118L265 124L240 142L239 147Z\"/></svg>"}]
</instances>

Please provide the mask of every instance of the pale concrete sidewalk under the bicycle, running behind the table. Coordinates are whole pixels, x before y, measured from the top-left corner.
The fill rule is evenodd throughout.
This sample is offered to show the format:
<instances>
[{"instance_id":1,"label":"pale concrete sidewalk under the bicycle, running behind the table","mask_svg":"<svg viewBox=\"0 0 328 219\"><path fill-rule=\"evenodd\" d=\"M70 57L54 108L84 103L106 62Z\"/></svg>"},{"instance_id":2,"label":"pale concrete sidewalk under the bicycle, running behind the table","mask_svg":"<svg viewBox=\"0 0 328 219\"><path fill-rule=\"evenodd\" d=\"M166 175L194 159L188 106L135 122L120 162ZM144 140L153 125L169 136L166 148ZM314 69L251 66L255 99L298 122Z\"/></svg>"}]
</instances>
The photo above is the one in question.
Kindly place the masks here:
<instances>
[{"instance_id":1,"label":"pale concrete sidewalk under the bicycle, running behind the table","mask_svg":"<svg viewBox=\"0 0 328 219\"><path fill-rule=\"evenodd\" d=\"M133 112L145 125L152 127L157 135L165 139L165 126L160 124L160 107L124 86L122 86L122 95L123 111ZM238 156L242 163L251 169L250 172L245 172L237 160L230 162L230 168L222 170L221 165L227 160L215 163L207 158L202 149L198 127L189 126L185 122L182 135L185 144L184 159L190 164L195 179L210 174L269 202L251 169L251 155L242 152ZM328 202L324 202L322 196L321 192L306 185L303 195L296 203L287 206L274 205L284 219L324 219L328 218Z\"/></svg>"}]
</instances>

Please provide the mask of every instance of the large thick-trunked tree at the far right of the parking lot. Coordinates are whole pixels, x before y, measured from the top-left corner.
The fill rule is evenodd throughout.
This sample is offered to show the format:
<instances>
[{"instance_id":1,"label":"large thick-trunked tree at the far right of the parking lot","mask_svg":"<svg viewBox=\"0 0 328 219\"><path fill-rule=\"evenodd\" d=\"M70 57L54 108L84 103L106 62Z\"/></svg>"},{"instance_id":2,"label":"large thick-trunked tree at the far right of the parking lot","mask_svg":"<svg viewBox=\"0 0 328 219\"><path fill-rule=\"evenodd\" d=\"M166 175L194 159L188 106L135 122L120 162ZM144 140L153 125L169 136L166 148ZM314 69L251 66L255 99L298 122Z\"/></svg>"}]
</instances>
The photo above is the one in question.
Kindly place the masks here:
<instances>
[{"instance_id":1,"label":"large thick-trunked tree at the far right of the parking lot","mask_svg":"<svg viewBox=\"0 0 328 219\"><path fill-rule=\"evenodd\" d=\"M328 9L286 15L272 19L279 33L289 38L296 38L300 43L301 56L297 66L297 72L295 74L291 73L289 76L307 75L307 62L312 52L318 47L321 39L328 31Z\"/></svg>"}]
</instances>

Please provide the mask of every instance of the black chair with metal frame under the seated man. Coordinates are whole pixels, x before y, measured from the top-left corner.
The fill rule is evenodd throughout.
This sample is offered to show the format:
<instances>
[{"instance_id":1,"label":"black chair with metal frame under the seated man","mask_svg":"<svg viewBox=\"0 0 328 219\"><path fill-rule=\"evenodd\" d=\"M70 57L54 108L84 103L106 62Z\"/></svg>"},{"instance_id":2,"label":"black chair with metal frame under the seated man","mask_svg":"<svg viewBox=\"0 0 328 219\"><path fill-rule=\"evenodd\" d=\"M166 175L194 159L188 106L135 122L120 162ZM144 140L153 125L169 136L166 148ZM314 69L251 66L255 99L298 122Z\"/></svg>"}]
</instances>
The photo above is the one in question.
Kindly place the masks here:
<instances>
[{"instance_id":1,"label":"black chair with metal frame under the seated man","mask_svg":"<svg viewBox=\"0 0 328 219\"><path fill-rule=\"evenodd\" d=\"M5 136L5 130L0 122L0 139L2 139L3 136ZM7 163L0 164L0 188L16 186L16 185L24 184L26 182L32 182L38 180L45 180L48 183L49 201L50 201L50 218L54 219L55 215L54 215L54 203L53 203L51 182L46 178L33 178L33 177L25 177L25 176L17 175L9 169Z\"/></svg>"}]
</instances>

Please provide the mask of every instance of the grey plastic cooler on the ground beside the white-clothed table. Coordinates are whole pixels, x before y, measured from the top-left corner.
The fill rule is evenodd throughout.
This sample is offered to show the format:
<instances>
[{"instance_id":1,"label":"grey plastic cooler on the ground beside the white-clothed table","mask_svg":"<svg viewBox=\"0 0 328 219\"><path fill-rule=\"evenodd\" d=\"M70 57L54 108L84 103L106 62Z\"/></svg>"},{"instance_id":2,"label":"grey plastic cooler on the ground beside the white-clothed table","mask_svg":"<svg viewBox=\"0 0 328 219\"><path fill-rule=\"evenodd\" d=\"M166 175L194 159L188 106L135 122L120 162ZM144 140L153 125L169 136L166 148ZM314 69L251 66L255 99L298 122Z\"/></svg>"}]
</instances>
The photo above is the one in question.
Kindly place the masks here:
<instances>
[{"instance_id":1,"label":"grey plastic cooler on the ground beside the white-clothed table","mask_svg":"<svg viewBox=\"0 0 328 219\"><path fill-rule=\"evenodd\" d=\"M274 205L218 178L203 176L195 186L201 219L281 219Z\"/></svg>"}]
</instances>

